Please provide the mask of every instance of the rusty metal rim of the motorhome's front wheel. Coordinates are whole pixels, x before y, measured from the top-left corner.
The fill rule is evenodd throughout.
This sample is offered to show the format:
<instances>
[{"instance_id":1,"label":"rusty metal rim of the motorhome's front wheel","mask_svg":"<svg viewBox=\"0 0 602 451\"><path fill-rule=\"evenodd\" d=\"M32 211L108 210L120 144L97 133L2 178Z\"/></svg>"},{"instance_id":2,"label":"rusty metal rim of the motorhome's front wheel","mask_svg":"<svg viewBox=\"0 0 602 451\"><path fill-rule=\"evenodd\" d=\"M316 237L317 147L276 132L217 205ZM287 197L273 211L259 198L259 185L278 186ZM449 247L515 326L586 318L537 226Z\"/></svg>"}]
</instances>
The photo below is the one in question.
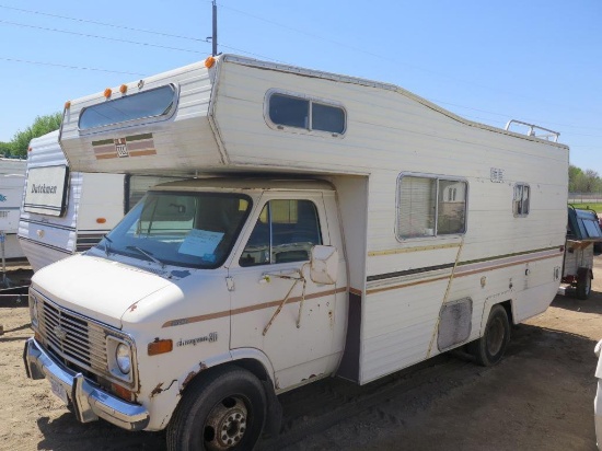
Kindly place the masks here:
<instances>
[{"instance_id":1,"label":"rusty metal rim of the motorhome's front wheel","mask_svg":"<svg viewBox=\"0 0 602 451\"><path fill-rule=\"evenodd\" d=\"M246 431L246 406L236 397L225 397L209 413L205 423L205 444L208 450L223 451L241 442Z\"/></svg>"}]
</instances>

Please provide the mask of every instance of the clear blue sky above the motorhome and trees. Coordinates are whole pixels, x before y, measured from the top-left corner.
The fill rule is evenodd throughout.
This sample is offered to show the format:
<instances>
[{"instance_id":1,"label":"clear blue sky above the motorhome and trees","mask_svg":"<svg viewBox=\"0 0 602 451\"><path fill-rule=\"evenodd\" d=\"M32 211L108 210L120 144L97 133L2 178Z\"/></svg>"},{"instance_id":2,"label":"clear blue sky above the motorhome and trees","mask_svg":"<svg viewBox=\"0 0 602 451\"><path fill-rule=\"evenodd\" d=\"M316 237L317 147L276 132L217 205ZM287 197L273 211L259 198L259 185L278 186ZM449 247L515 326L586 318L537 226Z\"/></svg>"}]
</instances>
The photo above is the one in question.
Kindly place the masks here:
<instances>
[{"instance_id":1,"label":"clear blue sky above the motorhome and trees","mask_svg":"<svg viewBox=\"0 0 602 451\"><path fill-rule=\"evenodd\" d=\"M204 60L210 0L0 0L0 141L65 102ZM218 51L396 84L559 131L602 175L599 0L218 0ZM513 127L525 132L525 128Z\"/></svg>"}]
</instances>

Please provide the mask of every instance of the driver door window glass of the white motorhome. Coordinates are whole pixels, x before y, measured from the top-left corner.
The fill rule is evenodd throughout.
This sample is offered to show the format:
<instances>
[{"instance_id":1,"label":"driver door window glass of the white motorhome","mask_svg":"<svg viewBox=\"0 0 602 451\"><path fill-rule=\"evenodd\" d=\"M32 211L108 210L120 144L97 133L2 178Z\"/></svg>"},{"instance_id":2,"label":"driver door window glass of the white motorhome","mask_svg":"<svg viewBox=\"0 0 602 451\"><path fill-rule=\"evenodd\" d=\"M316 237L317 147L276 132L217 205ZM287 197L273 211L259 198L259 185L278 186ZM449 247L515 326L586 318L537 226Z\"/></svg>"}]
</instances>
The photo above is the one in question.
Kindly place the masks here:
<instances>
[{"instance_id":1,"label":"driver door window glass of the white motorhome","mask_svg":"<svg viewBox=\"0 0 602 451\"><path fill-rule=\"evenodd\" d=\"M241 266L310 259L312 246L322 244L317 209L311 200L267 203L241 255Z\"/></svg>"}]
</instances>

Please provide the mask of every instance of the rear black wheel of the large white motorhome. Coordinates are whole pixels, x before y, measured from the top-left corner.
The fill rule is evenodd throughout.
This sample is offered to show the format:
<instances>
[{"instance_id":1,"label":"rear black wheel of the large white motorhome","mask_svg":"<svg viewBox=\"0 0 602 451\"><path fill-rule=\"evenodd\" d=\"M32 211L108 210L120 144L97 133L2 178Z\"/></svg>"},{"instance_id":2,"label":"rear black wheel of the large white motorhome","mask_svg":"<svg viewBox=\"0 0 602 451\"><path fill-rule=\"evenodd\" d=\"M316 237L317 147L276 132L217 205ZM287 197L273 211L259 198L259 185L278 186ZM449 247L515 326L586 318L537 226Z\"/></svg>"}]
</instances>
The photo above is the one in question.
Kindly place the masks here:
<instances>
[{"instance_id":1,"label":"rear black wheel of the large white motorhome","mask_svg":"<svg viewBox=\"0 0 602 451\"><path fill-rule=\"evenodd\" d=\"M490 367L501 360L510 342L510 322L503 307L497 304L491 308L485 326L485 334L468 344L470 352L478 365Z\"/></svg>"}]
</instances>

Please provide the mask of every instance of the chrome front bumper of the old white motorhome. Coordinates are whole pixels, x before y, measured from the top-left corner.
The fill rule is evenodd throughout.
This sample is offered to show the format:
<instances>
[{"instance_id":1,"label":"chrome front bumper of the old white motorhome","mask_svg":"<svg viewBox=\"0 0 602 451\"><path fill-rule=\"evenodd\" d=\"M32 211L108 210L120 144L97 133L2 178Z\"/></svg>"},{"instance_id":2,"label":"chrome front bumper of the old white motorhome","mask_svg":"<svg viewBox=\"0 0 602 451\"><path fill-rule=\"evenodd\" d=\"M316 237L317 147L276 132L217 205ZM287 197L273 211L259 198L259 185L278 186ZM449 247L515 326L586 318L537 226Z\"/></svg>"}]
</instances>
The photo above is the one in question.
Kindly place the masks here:
<instances>
[{"instance_id":1,"label":"chrome front bumper of the old white motorhome","mask_svg":"<svg viewBox=\"0 0 602 451\"><path fill-rule=\"evenodd\" d=\"M99 417L127 430L142 430L149 424L148 410L125 402L89 382L81 373L76 373L54 360L34 338L25 343L23 351L25 370L30 379L50 379L62 386L78 420L90 423Z\"/></svg>"}]
</instances>

